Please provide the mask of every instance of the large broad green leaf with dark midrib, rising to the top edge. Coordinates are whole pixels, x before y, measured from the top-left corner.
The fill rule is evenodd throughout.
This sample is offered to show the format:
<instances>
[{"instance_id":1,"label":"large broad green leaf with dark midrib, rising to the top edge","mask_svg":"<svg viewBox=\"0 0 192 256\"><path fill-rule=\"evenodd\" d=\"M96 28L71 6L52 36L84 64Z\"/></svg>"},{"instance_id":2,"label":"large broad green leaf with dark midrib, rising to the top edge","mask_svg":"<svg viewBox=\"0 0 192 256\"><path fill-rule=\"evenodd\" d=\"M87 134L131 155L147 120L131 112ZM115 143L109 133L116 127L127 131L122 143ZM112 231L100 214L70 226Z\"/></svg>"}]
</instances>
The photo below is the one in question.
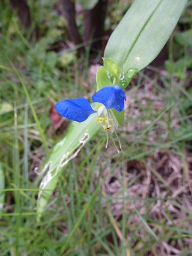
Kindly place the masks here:
<instances>
[{"instance_id":1,"label":"large broad green leaf with dark midrib, rising to the top edge","mask_svg":"<svg viewBox=\"0 0 192 256\"><path fill-rule=\"evenodd\" d=\"M135 0L105 49L105 58L124 68L141 70L169 39L187 0Z\"/></svg>"}]
</instances>

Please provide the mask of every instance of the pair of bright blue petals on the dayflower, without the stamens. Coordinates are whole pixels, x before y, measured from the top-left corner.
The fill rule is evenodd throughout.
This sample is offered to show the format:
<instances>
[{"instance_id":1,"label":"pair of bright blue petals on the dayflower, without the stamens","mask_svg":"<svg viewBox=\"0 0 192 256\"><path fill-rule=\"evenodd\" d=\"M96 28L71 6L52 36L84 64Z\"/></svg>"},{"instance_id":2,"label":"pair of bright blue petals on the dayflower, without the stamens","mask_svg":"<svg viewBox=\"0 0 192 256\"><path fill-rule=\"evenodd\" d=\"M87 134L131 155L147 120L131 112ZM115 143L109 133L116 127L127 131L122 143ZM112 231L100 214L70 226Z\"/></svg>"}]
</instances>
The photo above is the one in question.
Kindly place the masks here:
<instances>
[{"instance_id":1,"label":"pair of bright blue petals on the dayflower, without the stamens","mask_svg":"<svg viewBox=\"0 0 192 256\"><path fill-rule=\"evenodd\" d=\"M105 86L92 96L94 102L102 103L105 108L121 112L124 109L125 93L119 86ZM93 110L90 102L84 98L62 100L55 104L55 109L61 116L79 123L84 122Z\"/></svg>"}]
</instances>

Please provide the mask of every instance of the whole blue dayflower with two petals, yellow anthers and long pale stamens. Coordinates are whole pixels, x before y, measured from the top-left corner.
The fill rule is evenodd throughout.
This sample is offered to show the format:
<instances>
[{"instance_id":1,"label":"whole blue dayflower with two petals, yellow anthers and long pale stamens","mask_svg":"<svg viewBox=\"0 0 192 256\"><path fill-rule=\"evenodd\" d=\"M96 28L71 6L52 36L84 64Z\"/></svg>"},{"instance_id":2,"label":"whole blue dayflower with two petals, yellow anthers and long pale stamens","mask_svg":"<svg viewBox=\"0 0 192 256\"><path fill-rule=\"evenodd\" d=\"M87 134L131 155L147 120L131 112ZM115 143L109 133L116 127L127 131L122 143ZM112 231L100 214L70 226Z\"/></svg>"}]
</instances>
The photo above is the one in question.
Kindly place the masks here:
<instances>
[{"instance_id":1,"label":"whole blue dayflower with two petals, yellow anthers and long pale stamens","mask_svg":"<svg viewBox=\"0 0 192 256\"><path fill-rule=\"evenodd\" d=\"M124 109L124 100L126 100L125 93L118 85L105 86L101 90L93 94L92 100L94 102L102 104L98 108L98 110L92 109L90 102L84 98L67 99L59 101L55 104L55 109L61 116L79 123L84 122L91 114L97 113L97 121L102 126L103 130L106 131L107 134L107 148L109 140L108 131L110 131L110 133L115 132L116 137L118 139L115 130L117 122L115 115L113 111L111 111L111 109L115 109L118 112L121 112ZM119 150L121 150L121 143L119 139L118 142L119 149L116 147L115 142L113 140L113 143L117 151L119 152Z\"/></svg>"}]
</instances>

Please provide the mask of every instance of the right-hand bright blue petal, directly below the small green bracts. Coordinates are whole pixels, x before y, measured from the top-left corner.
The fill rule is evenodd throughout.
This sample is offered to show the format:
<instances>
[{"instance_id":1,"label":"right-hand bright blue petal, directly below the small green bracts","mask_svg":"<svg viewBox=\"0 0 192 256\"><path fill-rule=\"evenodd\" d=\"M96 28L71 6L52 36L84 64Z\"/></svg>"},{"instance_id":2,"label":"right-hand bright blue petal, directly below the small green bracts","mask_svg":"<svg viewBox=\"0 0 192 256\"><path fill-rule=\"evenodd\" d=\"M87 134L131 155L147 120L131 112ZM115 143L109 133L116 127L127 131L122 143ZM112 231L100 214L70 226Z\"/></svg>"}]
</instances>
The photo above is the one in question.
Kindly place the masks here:
<instances>
[{"instance_id":1,"label":"right-hand bright blue petal, directly below the small green bracts","mask_svg":"<svg viewBox=\"0 0 192 256\"><path fill-rule=\"evenodd\" d=\"M114 108L121 112L124 109L125 93L119 86L105 86L92 96L92 100L102 103L107 109Z\"/></svg>"}]
</instances>

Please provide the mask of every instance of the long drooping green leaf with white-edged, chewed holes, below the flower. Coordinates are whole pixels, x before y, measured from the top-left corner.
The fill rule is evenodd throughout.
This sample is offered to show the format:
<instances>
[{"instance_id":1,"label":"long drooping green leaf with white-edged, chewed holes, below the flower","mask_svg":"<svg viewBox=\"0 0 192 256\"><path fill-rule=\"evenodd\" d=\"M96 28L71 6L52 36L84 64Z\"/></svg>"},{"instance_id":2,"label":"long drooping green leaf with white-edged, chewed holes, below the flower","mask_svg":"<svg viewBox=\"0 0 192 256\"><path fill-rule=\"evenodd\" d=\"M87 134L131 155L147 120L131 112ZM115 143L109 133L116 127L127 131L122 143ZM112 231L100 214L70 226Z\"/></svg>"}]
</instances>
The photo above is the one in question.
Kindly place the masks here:
<instances>
[{"instance_id":1,"label":"long drooping green leaf with white-edged, chewed holes, below the flower","mask_svg":"<svg viewBox=\"0 0 192 256\"><path fill-rule=\"evenodd\" d=\"M92 114L85 122L72 122L65 137L55 145L42 170L42 180L37 199L38 219L55 189L59 176L68 162L75 158L87 141L100 129L97 114Z\"/></svg>"}]
</instances>

